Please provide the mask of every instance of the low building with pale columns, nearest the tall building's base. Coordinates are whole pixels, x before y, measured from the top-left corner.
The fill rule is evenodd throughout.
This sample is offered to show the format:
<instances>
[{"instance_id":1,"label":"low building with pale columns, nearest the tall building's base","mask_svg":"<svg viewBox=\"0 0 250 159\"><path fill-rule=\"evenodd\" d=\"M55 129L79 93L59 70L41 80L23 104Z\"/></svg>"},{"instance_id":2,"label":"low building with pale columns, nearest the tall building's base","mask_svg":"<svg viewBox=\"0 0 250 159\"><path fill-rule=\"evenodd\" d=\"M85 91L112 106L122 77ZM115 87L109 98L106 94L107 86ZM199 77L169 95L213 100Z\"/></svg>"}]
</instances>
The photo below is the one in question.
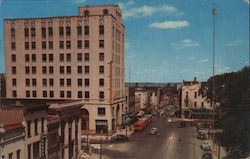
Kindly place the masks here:
<instances>
[{"instance_id":1,"label":"low building with pale columns, nearest the tall building's base","mask_svg":"<svg viewBox=\"0 0 250 159\"><path fill-rule=\"evenodd\" d=\"M81 107L83 101L73 101L64 103L51 104L48 110L48 115L59 117L59 158L72 159L79 157L81 150ZM51 121L50 121L51 122ZM55 121L54 133L50 133L50 136L57 136L57 121ZM50 123L52 124L52 123ZM49 142L50 146L56 148L56 143ZM57 149L58 150L58 149ZM56 150L55 150L56 156Z\"/></svg>"}]
</instances>

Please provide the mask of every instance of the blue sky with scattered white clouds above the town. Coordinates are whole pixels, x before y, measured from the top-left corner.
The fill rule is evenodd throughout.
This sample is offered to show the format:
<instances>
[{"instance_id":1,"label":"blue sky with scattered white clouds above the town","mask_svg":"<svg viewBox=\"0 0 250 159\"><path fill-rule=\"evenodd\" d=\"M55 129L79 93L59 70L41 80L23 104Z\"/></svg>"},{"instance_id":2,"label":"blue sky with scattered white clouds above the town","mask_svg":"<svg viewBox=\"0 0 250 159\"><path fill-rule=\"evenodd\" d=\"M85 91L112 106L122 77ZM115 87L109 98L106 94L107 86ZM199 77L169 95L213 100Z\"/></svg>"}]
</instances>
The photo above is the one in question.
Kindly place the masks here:
<instances>
[{"instance_id":1,"label":"blue sky with scattered white clouds above the town","mask_svg":"<svg viewBox=\"0 0 250 159\"><path fill-rule=\"evenodd\" d=\"M119 4L126 27L126 82L181 82L195 76L204 81L212 75L212 0L0 2L0 72L5 71L3 19L74 16L79 6ZM249 57L248 5L216 0L216 12L215 73L240 70Z\"/></svg>"}]
</instances>

